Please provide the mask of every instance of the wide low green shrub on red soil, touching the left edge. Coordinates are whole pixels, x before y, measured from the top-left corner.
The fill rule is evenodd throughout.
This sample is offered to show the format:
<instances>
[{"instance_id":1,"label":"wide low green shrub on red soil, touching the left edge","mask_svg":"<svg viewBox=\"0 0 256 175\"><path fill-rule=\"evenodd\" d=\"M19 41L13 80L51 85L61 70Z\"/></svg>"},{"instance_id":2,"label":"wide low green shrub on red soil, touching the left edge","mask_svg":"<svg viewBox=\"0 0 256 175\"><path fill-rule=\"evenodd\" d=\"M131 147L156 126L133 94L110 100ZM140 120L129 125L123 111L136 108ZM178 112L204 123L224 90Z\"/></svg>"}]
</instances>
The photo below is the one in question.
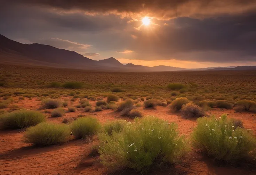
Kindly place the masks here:
<instances>
[{"instance_id":1,"label":"wide low green shrub on red soil, touching the left edge","mask_svg":"<svg viewBox=\"0 0 256 175\"><path fill-rule=\"evenodd\" d=\"M4 113L0 116L4 128L17 129L37 125L45 121L39 111L21 110Z\"/></svg>"}]
</instances>

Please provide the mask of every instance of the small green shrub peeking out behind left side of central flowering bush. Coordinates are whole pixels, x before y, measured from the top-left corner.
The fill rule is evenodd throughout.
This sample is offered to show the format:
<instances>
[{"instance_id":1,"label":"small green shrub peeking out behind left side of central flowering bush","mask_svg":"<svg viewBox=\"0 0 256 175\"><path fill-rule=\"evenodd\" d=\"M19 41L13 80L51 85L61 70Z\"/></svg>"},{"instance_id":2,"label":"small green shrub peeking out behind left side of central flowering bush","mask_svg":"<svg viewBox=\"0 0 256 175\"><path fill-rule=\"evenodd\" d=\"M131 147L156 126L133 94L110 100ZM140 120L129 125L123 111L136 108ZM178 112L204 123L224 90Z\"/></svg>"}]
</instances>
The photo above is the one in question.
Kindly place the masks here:
<instances>
[{"instance_id":1,"label":"small green shrub peeking out behind left side of central flowering bush","mask_svg":"<svg viewBox=\"0 0 256 175\"><path fill-rule=\"evenodd\" d=\"M107 121L102 127L103 133L112 135L113 132L120 133L123 128L127 125L125 120Z\"/></svg>"}]
</instances>

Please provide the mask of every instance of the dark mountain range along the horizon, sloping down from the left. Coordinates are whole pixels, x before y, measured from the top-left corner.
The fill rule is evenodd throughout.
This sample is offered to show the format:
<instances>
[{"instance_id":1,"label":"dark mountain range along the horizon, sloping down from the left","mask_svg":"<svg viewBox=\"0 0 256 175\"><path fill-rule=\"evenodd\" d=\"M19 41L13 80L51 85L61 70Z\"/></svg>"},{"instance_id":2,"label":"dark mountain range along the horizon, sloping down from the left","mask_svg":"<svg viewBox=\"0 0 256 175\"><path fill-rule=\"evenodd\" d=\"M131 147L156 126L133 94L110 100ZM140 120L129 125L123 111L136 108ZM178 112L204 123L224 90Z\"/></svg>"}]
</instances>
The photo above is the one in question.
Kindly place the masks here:
<instances>
[{"instance_id":1,"label":"dark mountain range along the horizon, sloping down from the left","mask_svg":"<svg viewBox=\"0 0 256 175\"><path fill-rule=\"evenodd\" d=\"M34 65L58 68L75 68L85 70L121 71L121 72L165 72L184 70L256 70L256 66L207 67L186 69L172 66L141 66L122 64L111 57L92 60L77 52L55 48L44 44L23 44L0 35L0 63Z\"/></svg>"}]
</instances>

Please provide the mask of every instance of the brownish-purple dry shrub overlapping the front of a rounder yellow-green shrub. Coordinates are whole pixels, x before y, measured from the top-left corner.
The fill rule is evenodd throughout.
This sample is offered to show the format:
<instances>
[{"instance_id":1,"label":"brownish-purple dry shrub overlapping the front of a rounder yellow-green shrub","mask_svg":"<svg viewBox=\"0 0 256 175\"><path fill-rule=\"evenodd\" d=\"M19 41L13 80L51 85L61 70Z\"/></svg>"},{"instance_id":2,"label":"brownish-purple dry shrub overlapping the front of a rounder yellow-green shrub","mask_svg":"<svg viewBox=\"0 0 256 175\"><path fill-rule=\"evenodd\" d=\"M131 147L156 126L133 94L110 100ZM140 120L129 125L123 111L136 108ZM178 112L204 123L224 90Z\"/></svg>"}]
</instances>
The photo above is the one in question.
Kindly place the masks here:
<instances>
[{"instance_id":1,"label":"brownish-purple dry shrub overlapping the front of a rounder yellow-green shrub","mask_svg":"<svg viewBox=\"0 0 256 175\"><path fill-rule=\"evenodd\" d=\"M182 106L181 115L183 117L192 118L192 117L203 117L205 116L205 111L197 105L193 103L187 103L186 105Z\"/></svg>"}]
</instances>

